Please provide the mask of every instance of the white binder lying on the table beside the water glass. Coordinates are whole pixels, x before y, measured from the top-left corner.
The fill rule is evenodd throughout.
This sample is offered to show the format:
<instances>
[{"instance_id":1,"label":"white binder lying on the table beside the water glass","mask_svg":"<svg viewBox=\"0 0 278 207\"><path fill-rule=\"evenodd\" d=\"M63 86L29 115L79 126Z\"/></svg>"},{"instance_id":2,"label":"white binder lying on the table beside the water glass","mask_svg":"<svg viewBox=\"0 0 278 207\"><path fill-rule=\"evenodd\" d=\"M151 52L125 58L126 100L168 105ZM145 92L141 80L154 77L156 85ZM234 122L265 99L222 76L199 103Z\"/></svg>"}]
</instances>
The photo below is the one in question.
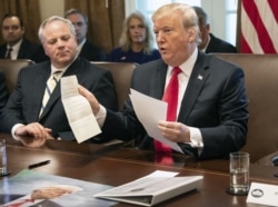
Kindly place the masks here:
<instances>
[{"instance_id":1,"label":"white binder lying on the table beside the water glass","mask_svg":"<svg viewBox=\"0 0 278 207\"><path fill-rule=\"evenodd\" d=\"M200 188L202 176L142 177L96 194L93 197L153 206L169 198Z\"/></svg>"}]
</instances>

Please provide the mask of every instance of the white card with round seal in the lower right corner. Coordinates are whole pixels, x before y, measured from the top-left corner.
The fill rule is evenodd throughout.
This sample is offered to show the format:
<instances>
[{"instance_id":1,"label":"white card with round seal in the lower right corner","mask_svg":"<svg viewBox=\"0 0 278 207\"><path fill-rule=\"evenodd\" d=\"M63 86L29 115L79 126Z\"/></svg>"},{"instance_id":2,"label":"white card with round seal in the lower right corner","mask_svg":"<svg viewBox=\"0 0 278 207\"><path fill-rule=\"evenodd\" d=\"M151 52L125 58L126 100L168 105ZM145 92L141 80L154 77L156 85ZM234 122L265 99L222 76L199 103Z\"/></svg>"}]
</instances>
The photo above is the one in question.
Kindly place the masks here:
<instances>
[{"instance_id":1,"label":"white card with round seal in the lower right corner","mask_svg":"<svg viewBox=\"0 0 278 207\"><path fill-rule=\"evenodd\" d=\"M266 206L278 206L278 186L251 183L247 203Z\"/></svg>"}]
</instances>

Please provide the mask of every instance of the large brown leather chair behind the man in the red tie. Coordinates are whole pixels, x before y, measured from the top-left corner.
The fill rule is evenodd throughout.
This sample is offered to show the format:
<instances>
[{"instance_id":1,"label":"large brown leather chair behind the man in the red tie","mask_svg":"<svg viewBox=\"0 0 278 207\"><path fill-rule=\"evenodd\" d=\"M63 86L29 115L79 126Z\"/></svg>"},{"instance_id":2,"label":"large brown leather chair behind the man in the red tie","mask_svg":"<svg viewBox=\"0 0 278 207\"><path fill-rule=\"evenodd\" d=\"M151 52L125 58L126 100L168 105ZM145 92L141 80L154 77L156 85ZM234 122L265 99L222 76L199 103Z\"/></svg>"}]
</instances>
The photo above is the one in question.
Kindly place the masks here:
<instances>
[{"instance_id":1,"label":"large brown leather chair behind the man in the red tie","mask_svg":"<svg viewBox=\"0 0 278 207\"><path fill-rule=\"evenodd\" d=\"M249 98L247 144L252 162L278 150L278 56L214 53L245 71Z\"/></svg>"}]
</instances>

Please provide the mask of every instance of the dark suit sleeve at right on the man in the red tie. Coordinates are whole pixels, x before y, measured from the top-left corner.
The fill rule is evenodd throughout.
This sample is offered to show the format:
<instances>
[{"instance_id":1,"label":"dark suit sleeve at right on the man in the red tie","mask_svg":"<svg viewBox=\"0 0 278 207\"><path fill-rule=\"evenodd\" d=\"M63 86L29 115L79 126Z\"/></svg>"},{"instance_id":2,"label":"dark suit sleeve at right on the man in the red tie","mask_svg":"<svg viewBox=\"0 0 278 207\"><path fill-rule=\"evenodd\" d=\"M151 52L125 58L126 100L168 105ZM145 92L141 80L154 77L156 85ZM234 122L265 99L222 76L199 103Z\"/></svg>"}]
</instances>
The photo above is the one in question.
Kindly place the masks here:
<instances>
[{"instance_id":1,"label":"dark suit sleeve at right on the man in the red tie","mask_svg":"<svg viewBox=\"0 0 278 207\"><path fill-rule=\"evenodd\" d=\"M217 101L219 124L199 127L203 139L201 159L228 158L229 152L239 150L246 144L249 114L242 70L232 70L222 86ZM188 148L185 146L185 150ZM197 150L191 151L197 156Z\"/></svg>"}]
</instances>

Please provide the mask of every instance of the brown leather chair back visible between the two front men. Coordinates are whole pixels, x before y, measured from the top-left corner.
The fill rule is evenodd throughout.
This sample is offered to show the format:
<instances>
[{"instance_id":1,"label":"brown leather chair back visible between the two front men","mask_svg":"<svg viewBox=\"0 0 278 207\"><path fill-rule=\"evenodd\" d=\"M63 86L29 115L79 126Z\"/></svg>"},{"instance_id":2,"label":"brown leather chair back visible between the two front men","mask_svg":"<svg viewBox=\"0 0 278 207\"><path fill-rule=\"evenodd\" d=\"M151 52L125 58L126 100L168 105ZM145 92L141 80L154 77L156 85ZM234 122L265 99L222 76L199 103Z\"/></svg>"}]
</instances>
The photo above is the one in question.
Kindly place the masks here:
<instances>
[{"instance_id":1,"label":"brown leather chair back visible between the two front men","mask_svg":"<svg viewBox=\"0 0 278 207\"><path fill-rule=\"evenodd\" d=\"M92 61L91 63L109 70L112 73L118 99L118 109L121 110L123 108L125 100L129 98L131 76L137 63L108 61Z\"/></svg>"}]
</instances>

